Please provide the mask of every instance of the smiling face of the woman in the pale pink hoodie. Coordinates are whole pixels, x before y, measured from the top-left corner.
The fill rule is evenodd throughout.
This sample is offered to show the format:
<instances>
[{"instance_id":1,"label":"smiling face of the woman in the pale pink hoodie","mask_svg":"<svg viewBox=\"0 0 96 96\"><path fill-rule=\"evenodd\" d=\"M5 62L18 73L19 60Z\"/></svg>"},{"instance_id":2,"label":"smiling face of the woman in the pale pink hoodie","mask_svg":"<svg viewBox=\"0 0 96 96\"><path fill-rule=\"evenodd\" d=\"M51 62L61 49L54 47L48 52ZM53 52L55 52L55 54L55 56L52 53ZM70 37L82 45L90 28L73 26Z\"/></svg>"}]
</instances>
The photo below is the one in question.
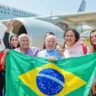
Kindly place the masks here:
<instances>
[{"instance_id":1,"label":"smiling face of the woman in the pale pink hoodie","mask_svg":"<svg viewBox=\"0 0 96 96\"><path fill-rule=\"evenodd\" d=\"M76 43L76 37L72 30L69 30L64 37L65 43L68 47L72 47Z\"/></svg>"}]
</instances>

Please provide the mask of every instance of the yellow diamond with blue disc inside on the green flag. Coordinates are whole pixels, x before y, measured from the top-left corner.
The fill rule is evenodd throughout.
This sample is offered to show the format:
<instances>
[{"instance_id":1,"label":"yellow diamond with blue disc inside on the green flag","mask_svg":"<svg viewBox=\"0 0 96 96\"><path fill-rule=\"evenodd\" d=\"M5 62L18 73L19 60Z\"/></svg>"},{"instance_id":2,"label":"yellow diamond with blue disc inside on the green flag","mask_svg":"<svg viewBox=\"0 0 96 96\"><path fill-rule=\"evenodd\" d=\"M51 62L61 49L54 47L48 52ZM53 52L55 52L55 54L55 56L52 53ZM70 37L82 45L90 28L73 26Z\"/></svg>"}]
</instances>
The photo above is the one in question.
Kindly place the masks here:
<instances>
[{"instance_id":1,"label":"yellow diamond with blue disc inside on the green flag","mask_svg":"<svg viewBox=\"0 0 96 96\"><path fill-rule=\"evenodd\" d=\"M52 63L32 69L18 77L38 96L66 96L86 84L78 76Z\"/></svg>"}]
</instances>

